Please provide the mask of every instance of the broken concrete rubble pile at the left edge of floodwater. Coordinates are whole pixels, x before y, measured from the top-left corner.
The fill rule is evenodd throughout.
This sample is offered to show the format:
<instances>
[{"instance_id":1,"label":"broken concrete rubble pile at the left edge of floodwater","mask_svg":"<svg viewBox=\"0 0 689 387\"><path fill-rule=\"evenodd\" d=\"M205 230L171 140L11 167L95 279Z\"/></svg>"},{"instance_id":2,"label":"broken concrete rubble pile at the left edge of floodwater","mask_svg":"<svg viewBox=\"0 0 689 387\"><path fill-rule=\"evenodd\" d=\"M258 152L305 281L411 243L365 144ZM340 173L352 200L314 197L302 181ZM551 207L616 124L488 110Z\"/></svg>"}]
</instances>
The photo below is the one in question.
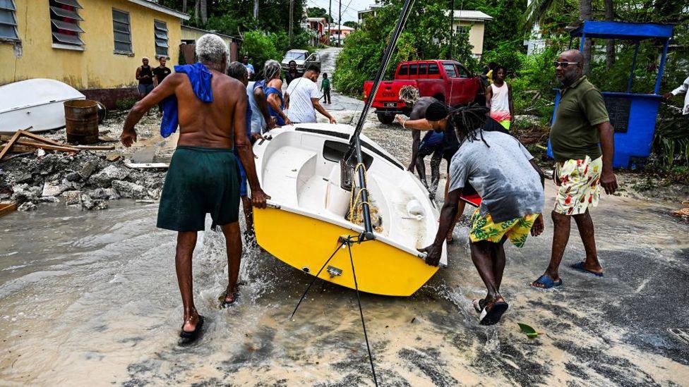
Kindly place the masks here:
<instances>
[{"instance_id":1,"label":"broken concrete rubble pile at the left edge of floodwater","mask_svg":"<svg viewBox=\"0 0 689 387\"><path fill-rule=\"evenodd\" d=\"M164 171L131 169L121 160L108 161L102 152L40 154L44 152L0 165L0 200L11 199L19 211L52 202L97 210L121 197L160 197Z\"/></svg>"}]
</instances>

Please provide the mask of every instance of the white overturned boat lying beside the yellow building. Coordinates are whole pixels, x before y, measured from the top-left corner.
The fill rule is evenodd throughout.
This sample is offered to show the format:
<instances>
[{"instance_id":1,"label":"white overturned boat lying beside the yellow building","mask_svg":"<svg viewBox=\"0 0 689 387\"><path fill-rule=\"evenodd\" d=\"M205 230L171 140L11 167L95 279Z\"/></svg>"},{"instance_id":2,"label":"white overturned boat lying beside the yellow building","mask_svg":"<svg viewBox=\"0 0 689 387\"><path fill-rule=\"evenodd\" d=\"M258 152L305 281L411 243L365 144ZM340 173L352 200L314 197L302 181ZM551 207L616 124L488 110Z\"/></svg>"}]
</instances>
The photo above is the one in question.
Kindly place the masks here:
<instances>
[{"instance_id":1,"label":"white overturned boat lying beside the yellow building","mask_svg":"<svg viewBox=\"0 0 689 387\"><path fill-rule=\"evenodd\" d=\"M0 133L29 128L42 132L65 125L64 105L86 99L75 88L52 79L30 79L0 86Z\"/></svg>"}]
</instances>

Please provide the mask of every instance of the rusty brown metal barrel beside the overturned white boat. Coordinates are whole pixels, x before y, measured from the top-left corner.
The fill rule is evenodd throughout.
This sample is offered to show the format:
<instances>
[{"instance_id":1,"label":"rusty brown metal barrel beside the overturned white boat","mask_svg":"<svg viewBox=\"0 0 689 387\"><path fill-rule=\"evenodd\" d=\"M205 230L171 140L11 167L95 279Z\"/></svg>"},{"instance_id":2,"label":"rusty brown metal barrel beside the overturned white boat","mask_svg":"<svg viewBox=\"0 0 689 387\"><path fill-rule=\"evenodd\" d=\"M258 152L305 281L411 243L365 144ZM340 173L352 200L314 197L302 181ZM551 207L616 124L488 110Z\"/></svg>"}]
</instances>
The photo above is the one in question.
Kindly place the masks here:
<instances>
[{"instance_id":1,"label":"rusty brown metal barrel beside the overturned white boat","mask_svg":"<svg viewBox=\"0 0 689 387\"><path fill-rule=\"evenodd\" d=\"M98 104L88 99L65 101L67 142L93 144L98 142Z\"/></svg>"}]
</instances>

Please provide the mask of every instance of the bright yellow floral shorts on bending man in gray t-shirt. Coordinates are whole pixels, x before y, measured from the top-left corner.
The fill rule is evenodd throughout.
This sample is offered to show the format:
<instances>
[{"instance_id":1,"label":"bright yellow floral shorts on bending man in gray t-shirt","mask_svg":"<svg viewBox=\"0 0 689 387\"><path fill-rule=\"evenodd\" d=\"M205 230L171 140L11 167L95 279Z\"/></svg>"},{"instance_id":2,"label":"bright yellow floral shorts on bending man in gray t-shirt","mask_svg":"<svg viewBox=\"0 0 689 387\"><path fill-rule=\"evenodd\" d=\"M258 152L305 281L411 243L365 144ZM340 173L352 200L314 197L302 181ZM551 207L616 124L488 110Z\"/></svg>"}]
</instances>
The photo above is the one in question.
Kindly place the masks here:
<instances>
[{"instance_id":1,"label":"bright yellow floral shorts on bending man in gray t-shirt","mask_svg":"<svg viewBox=\"0 0 689 387\"><path fill-rule=\"evenodd\" d=\"M507 236L507 238L510 238L513 245L522 247L527 241L529 232L539 215L540 214L529 214L510 221L493 223L491 214L481 216L479 209L476 209L472 215L472 229L469 231L469 240L472 242L487 240L497 243L500 242L503 237Z\"/></svg>"}]
</instances>

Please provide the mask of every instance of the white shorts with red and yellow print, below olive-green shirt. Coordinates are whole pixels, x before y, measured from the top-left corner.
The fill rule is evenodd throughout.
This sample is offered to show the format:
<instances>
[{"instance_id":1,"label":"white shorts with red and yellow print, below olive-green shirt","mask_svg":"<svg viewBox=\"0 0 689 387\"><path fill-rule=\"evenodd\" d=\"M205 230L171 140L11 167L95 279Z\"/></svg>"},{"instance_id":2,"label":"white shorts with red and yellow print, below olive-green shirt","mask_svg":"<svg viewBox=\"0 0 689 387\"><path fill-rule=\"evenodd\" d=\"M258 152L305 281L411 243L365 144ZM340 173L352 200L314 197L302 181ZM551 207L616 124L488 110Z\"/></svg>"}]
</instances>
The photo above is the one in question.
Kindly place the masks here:
<instances>
[{"instance_id":1,"label":"white shorts with red and yellow print, below olive-green shirt","mask_svg":"<svg viewBox=\"0 0 689 387\"><path fill-rule=\"evenodd\" d=\"M557 164L555 176L559 182L555 211L563 215L584 214L589 206L597 207L601 197L599 180L603 158L567 160Z\"/></svg>"}]
</instances>

